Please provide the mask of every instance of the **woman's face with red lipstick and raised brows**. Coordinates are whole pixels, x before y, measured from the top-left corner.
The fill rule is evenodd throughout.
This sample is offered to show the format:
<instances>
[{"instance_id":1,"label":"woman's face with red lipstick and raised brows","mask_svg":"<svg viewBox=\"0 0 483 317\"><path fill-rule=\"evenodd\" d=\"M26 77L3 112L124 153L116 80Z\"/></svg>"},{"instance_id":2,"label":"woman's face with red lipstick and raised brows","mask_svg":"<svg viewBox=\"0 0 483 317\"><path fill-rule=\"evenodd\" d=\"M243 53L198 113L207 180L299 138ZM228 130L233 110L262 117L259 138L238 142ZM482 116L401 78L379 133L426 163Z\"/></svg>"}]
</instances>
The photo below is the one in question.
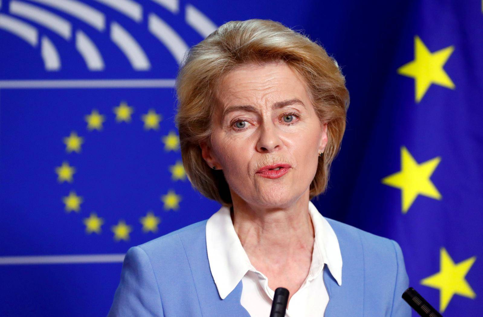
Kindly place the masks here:
<instances>
[{"instance_id":1,"label":"woman's face with red lipstick and raised brows","mask_svg":"<svg viewBox=\"0 0 483 317\"><path fill-rule=\"evenodd\" d=\"M302 79L283 62L242 65L222 78L216 103L212 148L201 148L210 167L223 170L232 199L270 208L308 197L327 124ZM284 165L260 172L276 164Z\"/></svg>"}]
</instances>

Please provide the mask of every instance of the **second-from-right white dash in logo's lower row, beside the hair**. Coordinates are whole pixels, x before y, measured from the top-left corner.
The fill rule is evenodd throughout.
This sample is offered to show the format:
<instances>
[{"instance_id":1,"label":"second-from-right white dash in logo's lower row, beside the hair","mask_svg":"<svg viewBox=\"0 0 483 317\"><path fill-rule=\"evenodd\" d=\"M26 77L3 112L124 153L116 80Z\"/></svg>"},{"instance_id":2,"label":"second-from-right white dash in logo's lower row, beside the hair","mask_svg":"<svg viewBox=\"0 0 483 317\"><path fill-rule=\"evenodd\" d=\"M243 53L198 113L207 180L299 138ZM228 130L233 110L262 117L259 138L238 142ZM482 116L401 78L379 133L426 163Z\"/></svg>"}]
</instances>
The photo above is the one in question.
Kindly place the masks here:
<instances>
[{"instance_id":1,"label":"second-from-right white dash in logo's lower row, beside the hair","mask_svg":"<svg viewBox=\"0 0 483 317\"><path fill-rule=\"evenodd\" d=\"M168 48L178 64L181 64L185 52L188 50L188 45L181 36L154 13L149 14L148 29Z\"/></svg>"}]
</instances>

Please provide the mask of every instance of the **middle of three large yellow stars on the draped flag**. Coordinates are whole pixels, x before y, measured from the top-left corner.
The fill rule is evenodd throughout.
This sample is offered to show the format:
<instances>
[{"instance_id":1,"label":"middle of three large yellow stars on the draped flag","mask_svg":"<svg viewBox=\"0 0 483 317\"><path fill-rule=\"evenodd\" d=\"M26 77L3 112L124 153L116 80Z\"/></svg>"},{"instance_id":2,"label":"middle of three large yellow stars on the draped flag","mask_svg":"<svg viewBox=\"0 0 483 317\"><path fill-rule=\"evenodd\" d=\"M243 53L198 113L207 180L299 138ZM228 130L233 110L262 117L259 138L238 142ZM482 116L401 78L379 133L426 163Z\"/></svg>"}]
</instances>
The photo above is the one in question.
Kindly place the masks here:
<instances>
[{"instance_id":1,"label":"middle of three large yellow stars on the draped flag","mask_svg":"<svg viewBox=\"0 0 483 317\"><path fill-rule=\"evenodd\" d=\"M418 165L405 146L401 147L401 171L382 179L382 183L401 189L402 213L408 212L418 195L437 200L441 194L429 179L440 163L441 158L427 160Z\"/></svg>"}]
</instances>

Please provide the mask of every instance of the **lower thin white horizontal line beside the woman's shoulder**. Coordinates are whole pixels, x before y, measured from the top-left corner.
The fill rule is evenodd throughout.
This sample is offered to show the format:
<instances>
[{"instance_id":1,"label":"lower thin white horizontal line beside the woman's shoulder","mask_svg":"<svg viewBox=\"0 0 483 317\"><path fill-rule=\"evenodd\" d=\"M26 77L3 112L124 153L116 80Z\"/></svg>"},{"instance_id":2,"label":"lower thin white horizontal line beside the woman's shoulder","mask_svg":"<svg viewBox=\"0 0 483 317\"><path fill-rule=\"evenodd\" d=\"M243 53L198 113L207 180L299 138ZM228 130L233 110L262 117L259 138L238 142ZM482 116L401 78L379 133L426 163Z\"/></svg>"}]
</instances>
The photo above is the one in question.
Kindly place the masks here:
<instances>
[{"instance_id":1,"label":"lower thin white horizontal line beside the woman's shoulder","mask_svg":"<svg viewBox=\"0 0 483 317\"><path fill-rule=\"evenodd\" d=\"M0 257L0 265L19 264L72 264L72 263L118 263L125 254L44 255L24 257Z\"/></svg>"}]
</instances>

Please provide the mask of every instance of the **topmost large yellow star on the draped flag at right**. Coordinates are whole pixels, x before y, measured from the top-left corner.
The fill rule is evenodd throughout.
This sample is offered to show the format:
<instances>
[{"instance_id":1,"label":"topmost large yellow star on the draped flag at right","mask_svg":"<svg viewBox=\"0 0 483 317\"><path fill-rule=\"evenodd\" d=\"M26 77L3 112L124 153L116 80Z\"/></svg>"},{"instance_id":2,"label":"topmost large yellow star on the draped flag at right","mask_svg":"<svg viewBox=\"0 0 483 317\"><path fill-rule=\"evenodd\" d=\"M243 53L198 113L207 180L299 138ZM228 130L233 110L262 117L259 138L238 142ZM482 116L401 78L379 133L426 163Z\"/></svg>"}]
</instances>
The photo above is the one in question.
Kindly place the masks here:
<instances>
[{"instance_id":1,"label":"topmost large yellow star on the draped flag at right","mask_svg":"<svg viewBox=\"0 0 483 317\"><path fill-rule=\"evenodd\" d=\"M448 46L431 53L419 36L414 36L414 60L399 67L398 73L414 78L416 102L423 99L431 84L455 88L455 84L443 69L454 50L454 46Z\"/></svg>"}]
</instances>

